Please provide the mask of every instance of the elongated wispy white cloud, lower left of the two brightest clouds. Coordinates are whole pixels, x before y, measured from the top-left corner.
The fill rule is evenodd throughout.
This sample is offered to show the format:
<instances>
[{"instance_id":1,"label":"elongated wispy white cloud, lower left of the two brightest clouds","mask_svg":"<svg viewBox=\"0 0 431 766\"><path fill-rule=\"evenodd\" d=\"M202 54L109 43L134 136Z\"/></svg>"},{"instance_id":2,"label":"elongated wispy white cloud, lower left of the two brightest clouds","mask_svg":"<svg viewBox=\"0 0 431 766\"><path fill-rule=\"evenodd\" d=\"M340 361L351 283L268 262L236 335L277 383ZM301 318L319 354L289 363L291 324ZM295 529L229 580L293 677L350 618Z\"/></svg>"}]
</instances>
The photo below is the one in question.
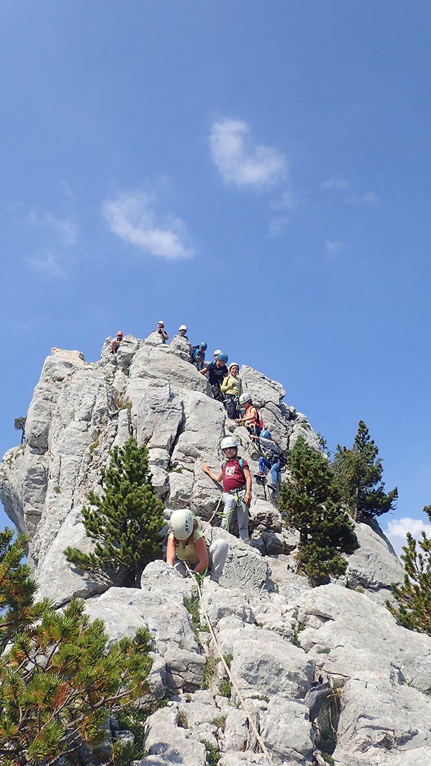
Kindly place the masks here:
<instances>
[{"instance_id":1,"label":"elongated wispy white cloud, lower left of the two brightest clouds","mask_svg":"<svg viewBox=\"0 0 431 766\"><path fill-rule=\"evenodd\" d=\"M102 213L109 228L120 239L145 252L167 260L189 258L188 234L180 218L167 218L162 224L155 220L152 205L154 195L144 191L124 191L116 198L103 202Z\"/></svg>"}]
</instances>

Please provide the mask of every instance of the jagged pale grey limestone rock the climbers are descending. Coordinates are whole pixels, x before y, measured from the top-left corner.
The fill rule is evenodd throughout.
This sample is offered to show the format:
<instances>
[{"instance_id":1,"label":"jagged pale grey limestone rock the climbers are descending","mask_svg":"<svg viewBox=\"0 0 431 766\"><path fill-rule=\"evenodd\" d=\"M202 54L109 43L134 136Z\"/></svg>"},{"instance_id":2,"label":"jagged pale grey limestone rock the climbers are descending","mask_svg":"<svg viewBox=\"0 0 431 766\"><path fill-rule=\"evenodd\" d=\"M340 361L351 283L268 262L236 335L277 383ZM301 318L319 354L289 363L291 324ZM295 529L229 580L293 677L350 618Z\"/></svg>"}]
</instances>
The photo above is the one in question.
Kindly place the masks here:
<instances>
[{"instance_id":1,"label":"jagged pale grey limestone rock the climbers are descending","mask_svg":"<svg viewBox=\"0 0 431 766\"><path fill-rule=\"evenodd\" d=\"M184 507L212 516L220 490L201 463L217 469L220 440L231 430L252 473L257 468L247 433L227 421L188 361L186 340L125 336L116 355L109 349L106 339L91 363L80 352L52 349L28 410L27 443L2 459L0 497L31 535L41 596L58 607L84 597L113 639L143 625L151 631L149 693L168 693L170 702L149 717L149 755L139 763L205 766L211 745L220 750L219 766L267 764L237 692L211 660L216 647L208 633L195 633L184 607L194 584L153 561L141 588L107 588L64 557L67 545L90 550L80 510L90 489L100 491L109 450L130 434L149 447L167 517ZM284 402L282 385L247 366L240 377L283 448L302 434L318 449L305 415ZM361 547L347 575L320 588L295 574L296 536L256 484L250 530L254 547L208 530L227 539L230 553L220 586L206 580L203 600L273 764L431 766L431 639L397 626L383 605L403 571L377 525L356 526Z\"/></svg>"}]
</instances>

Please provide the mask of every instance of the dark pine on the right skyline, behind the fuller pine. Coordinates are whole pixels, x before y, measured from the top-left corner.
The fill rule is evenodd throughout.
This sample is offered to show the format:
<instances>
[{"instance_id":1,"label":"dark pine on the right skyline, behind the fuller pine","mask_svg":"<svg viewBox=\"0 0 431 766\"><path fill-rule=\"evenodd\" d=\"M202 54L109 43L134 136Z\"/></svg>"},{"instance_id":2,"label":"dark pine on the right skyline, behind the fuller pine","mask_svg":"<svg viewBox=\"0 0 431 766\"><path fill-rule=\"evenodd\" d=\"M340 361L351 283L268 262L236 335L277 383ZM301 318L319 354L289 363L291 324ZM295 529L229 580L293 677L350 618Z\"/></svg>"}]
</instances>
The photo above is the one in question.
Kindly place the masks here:
<instances>
[{"instance_id":1,"label":"dark pine on the right skyline, behind the fuller pine","mask_svg":"<svg viewBox=\"0 0 431 766\"><path fill-rule=\"evenodd\" d=\"M341 499L357 522L381 516L397 506L397 487L389 493L384 491L383 466L378 453L364 421L359 421L351 449L338 444L335 453L333 466Z\"/></svg>"}]
</instances>

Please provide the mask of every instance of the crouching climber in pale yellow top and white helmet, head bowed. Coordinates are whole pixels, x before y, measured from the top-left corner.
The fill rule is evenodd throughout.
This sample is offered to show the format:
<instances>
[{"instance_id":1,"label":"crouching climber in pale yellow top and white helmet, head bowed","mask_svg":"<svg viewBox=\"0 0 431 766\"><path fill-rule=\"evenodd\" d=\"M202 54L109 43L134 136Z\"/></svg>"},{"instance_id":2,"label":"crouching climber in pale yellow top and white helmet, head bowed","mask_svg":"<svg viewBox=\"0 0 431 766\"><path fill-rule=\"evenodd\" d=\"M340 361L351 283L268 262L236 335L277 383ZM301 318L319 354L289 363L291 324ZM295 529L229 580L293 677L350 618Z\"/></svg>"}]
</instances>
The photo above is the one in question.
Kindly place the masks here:
<instances>
[{"instance_id":1,"label":"crouching climber in pale yellow top and white helmet, head bowed","mask_svg":"<svg viewBox=\"0 0 431 766\"><path fill-rule=\"evenodd\" d=\"M198 575L209 574L212 581L218 582L223 575L229 549L227 542L214 540L207 548L198 519L187 509L172 513L170 530L166 547L167 563L182 577L187 577L188 569L191 569Z\"/></svg>"}]
</instances>

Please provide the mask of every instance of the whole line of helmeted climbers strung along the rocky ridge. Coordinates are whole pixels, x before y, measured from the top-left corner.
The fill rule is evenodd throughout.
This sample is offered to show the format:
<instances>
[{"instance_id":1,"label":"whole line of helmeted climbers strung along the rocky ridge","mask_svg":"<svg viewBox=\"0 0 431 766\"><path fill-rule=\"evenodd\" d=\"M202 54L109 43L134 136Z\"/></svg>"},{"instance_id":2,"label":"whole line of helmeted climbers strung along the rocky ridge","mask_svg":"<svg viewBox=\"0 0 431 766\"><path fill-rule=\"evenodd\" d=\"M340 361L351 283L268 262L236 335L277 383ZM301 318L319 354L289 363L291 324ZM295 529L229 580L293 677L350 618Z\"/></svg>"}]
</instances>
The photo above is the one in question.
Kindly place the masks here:
<instances>
[{"instance_id":1,"label":"whole line of helmeted climbers strung along the rocky ridge","mask_svg":"<svg viewBox=\"0 0 431 766\"><path fill-rule=\"evenodd\" d=\"M162 343L166 343L169 336L165 331L165 322L160 320L155 332L161 336ZM178 335L181 338L188 340L187 332L186 325L179 326ZM121 342L122 332L119 331L116 339L111 343L113 353L117 352ZM223 402L227 417L237 425L246 427L250 439L260 452L259 471L254 476L258 482L262 482L269 471L271 482L267 486L276 492L279 487L280 471L286 466L286 457L273 440L269 430L264 429L262 418L253 404L251 394L243 390L238 362L230 362L228 365L227 354L221 349L215 349L213 360L206 362L206 351L207 343L204 341L192 346L191 363L201 375L207 375L213 397ZM248 519L252 476L247 460L238 455L238 446L234 437L224 437L220 449L225 460L220 470L214 472L205 464L201 468L212 480L222 483L223 494L219 502L219 505L223 503L223 511L219 514L221 528L229 531L233 513L236 511L240 539L250 545ZM188 575L202 577L210 574L211 580L218 582L223 574L227 552L227 542L222 539L207 546L201 524L190 510L178 509L172 513L166 561L178 571L178 574L184 577Z\"/></svg>"}]
</instances>

